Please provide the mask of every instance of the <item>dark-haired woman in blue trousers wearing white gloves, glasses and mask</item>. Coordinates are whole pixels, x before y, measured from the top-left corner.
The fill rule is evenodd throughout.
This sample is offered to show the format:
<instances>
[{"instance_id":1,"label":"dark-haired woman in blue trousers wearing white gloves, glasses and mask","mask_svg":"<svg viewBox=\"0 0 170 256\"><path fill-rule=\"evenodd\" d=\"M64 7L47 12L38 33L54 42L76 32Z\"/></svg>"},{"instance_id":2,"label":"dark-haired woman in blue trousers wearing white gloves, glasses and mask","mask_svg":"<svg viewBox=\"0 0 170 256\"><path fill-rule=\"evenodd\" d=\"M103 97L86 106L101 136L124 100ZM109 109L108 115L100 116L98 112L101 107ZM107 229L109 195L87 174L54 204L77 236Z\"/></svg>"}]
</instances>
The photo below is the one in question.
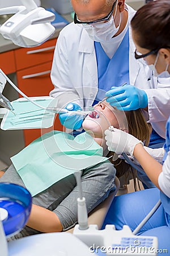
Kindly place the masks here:
<instances>
[{"instance_id":1,"label":"dark-haired woman in blue trousers wearing white gloves, glasses and mask","mask_svg":"<svg viewBox=\"0 0 170 256\"><path fill-rule=\"evenodd\" d=\"M150 33L148 26L151 28ZM158 81L162 83L166 92L167 88L170 87L169 0L154 1L143 6L131 20L131 27L136 45L135 56L138 59L143 57L146 63L155 69L155 73L158 73ZM106 224L114 224L117 229L121 229L126 224L130 226L131 230L134 230L160 199L162 205L143 226L139 234L158 237L160 249L158 255L169 255L170 115L166 125L166 141L162 164L155 160L159 153L158 149L152 150L152 158L147 153L150 150L143 147L143 143L130 134L114 129L113 132L105 131L105 135L109 150L113 150L117 154L125 152L134 156L157 188L116 197L105 218L104 226ZM162 148L160 148L161 151Z\"/></svg>"}]
</instances>

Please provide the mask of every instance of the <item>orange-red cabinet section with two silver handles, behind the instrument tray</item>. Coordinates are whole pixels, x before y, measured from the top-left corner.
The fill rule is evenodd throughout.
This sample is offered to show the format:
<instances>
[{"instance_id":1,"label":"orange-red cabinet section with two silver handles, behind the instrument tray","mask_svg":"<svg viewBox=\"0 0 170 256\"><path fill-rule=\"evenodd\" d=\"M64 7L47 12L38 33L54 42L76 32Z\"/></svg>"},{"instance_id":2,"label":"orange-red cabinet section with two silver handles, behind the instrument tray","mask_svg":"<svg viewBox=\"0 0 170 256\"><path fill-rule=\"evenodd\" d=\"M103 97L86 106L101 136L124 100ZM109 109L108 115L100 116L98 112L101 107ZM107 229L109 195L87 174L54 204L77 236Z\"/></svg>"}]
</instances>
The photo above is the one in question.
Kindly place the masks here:
<instances>
[{"instance_id":1,"label":"orange-red cabinet section with two silver handles, behind the instrument tray","mask_svg":"<svg viewBox=\"0 0 170 256\"><path fill-rule=\"evenodd\" d=\"M20 90L27 96L48 96L53 84L50 80L53 53L56 40L52 39L39 47L20 48L15 50L16 77ZM20 96L22 97L22 96ZM34 139L50 130L62 130L58 116L55 119L54 127L49 129L23 130L25 146Z\"/></svg>"}]
</instances>

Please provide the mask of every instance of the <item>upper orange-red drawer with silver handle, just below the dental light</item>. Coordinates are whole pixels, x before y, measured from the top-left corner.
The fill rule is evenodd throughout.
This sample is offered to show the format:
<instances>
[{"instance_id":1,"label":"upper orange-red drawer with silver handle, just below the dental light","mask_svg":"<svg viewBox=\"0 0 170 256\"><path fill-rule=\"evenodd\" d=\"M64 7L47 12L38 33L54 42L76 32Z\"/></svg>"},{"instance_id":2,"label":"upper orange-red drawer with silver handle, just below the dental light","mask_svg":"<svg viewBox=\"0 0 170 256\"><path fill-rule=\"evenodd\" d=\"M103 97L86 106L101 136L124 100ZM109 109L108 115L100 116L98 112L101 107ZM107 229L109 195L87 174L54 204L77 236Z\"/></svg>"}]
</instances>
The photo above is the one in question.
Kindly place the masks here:
<instances>
[{"instance_id":1,"label":"upper orange-red drawer with silver handle, just below the dental light","mask_svg":"<svg viewBox=\"0 0 170 256\"><path fill-rule=\"evenodd\" d=\"M16 70L52 61L56 42L57 39L52 39L38 47L16 49Z\"/></svg>"}]
</instances>

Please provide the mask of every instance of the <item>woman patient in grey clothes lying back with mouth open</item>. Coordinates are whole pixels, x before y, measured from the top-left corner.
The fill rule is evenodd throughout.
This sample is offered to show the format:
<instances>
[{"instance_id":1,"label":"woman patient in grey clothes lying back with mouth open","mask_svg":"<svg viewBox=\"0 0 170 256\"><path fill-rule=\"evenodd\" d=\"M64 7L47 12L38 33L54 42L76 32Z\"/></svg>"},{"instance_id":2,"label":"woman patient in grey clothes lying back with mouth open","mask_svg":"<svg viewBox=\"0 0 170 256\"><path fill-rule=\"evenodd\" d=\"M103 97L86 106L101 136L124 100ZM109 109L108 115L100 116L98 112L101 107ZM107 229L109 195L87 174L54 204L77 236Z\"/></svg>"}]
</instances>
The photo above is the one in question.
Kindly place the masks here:
<instances>
[{"instance_id":1,"label":"woman patient in grey clothes lying back with mouth open","mask_svg":"<svg viewBox=\"0 0 170 256\"><path fill-rule=\"evenodd\" d=\"M109 125L133 134L145 144L148 143L150 128L141 110L124 114L116 108L113 109L107 102L102 104L99 102L95 109L95 112L84 119L83 129L94 138L95 143L103 148L104 156L113 154L108 152L104 139L104 131ZM116 171L117 176L121 176L128 168L128 164L123 160L117 159L114 167L112 159L109 159L82 170L82 190L83 196L86 197L88 213L114 191ZM50 170L46 171L50 172ZM13 165L3 174L0 182L11 182L25 187ZM73 174L33 196L27 226L16 234L15 238L38 233L61 232L73 228L77 222L77 197L78 188Z\"/></svg>"}]
</instances>

